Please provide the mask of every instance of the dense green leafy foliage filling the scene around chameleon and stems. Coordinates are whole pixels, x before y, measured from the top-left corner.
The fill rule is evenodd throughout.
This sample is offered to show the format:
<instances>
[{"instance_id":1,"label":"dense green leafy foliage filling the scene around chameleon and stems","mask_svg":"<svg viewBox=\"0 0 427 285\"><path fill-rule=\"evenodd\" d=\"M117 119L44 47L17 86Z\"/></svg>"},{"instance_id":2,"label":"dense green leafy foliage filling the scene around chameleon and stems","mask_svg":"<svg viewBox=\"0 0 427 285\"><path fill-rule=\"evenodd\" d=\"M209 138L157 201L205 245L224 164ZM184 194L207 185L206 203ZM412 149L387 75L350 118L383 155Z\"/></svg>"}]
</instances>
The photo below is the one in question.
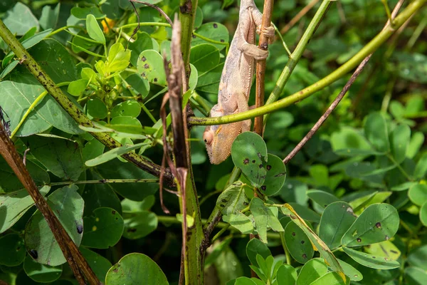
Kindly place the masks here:
<instances>
[{"instance_id":1,"label":"dense green leafy foliage filling the scene around chameleon and stems","mask_svg":"<svg viewBox=\"0 0 427 285\"><path fill-rule=\"evenodd\" d=\"M282 30L309 2L277 0L273 23ZM392 9L397 1L388 2ZM149 3L171 18L180 9L178 0ZM179 198L163 192L171 212L164 214L155 173L120 157L135 152L162 165L162 55L170 59L172 28L158 11L135 6L141 26L131 38L137 16L127 0L2 1L0 19L95 124L79 125L1 38L0 106L17 150L30 149L31 177L97 277L105 284L178 284ZM318 6L282 34L291 51ZM283 158L349 74L274 110L263 138L239 135L221 165L209 164L204 126L191 128L200 212L187 212L187 225L212 213L221 217L204 260L205 284L427 284L426 6L420 10L372 50L349 93L286 166ZM386 11L380 0L332 1L280 98L351 59L381 31ZM236 1L199 0L184 94L196 117L216 103L237 21ZM266 95L289 61L280 38L269 51ZM109 150L90 133L108 133L123 146ZM249 278L251 270L258 278ZM0 280L78 284L41 212L1 157Z\"/></svg>"}]
</instances>

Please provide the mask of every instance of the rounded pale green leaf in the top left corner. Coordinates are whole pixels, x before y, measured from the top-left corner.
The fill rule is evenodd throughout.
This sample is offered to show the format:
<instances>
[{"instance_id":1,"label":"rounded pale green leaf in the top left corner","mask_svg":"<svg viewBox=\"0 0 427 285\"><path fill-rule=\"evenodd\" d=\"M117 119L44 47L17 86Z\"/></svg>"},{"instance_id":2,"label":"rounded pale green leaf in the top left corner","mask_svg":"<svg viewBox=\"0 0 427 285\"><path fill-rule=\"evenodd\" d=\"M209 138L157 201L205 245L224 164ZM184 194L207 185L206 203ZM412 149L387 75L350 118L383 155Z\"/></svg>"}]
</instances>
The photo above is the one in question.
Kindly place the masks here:
<instances>
[{"instance_id":1,"label":"rounded pale green leaf in the top left corner","mask_svg":"<svg viewBox=\"0 0 427 285\"><path fill-rule=\"evenodd\" d=\"M34 26L37 30L40 28L37 18L31 13L31 9L21 2L17 2L14 8L8 11L3 21L6 27L12 33L16 33L17 36L22 36Z\"/></svg>"}]
</instances>

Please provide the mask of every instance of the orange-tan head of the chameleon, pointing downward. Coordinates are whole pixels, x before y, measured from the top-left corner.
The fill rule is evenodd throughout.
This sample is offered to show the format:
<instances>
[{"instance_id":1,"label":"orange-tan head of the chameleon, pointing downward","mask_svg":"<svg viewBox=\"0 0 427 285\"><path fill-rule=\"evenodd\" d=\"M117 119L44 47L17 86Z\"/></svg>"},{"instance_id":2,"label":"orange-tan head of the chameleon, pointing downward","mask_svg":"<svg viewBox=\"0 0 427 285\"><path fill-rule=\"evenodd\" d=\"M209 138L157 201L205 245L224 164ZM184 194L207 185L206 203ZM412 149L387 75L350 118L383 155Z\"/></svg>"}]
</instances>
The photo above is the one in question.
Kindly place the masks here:
<instances>
[{"instance_id":1,"label":"orange-tan head of the chameleon, pointing downward","mask_svg":"<svg viewBox=\"0 0 427 285\"><path fill-rule=\"evenodd\" d=\"M209 160L218 165L231 153L234 139L241 133L241 122L226 125L209 125L203 133Z\"/></svg>"}]
</instances>

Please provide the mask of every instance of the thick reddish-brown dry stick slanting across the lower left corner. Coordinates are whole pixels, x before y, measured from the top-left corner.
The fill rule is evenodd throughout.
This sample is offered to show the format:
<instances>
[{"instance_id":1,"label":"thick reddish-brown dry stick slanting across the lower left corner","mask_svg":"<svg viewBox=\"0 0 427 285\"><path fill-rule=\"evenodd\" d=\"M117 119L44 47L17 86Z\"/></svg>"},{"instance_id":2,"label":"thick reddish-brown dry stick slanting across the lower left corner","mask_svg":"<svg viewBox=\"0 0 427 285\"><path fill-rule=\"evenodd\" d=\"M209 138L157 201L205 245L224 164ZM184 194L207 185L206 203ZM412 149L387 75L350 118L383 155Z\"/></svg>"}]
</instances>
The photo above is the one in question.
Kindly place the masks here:
<instances>
[{"instance_id":1,"label":"thick reddish-brown dry stick slanting across the lower left corner","mask_svg":"<svg viewBox=\"0 0 427 285\"><path fill-rule=\"evenodd\" d=\"M65 259L70 265L73 274L79 284L86 284L85 279L92 285L102 284L98 279L93 270L90 268L88 262L80 254L78 247L75 245L73 240L70 238L68 233L60 224L58 218L53 214L51 207L44 197L38 192L36 183L31 178L28 170L23 164L23 160L19 156L14 143L9 139L9 136L4 130L3 124L0 123L0 154L4 157L4 160L10 165L11 169L14 170L16 177L19 178L22 185L28 191L28 194L33 198L37 208L40 210L43 217L46 219L49 228L51 229L53 236L58 242L60 250L63 252Z\"/></svg>"}]
</instances>

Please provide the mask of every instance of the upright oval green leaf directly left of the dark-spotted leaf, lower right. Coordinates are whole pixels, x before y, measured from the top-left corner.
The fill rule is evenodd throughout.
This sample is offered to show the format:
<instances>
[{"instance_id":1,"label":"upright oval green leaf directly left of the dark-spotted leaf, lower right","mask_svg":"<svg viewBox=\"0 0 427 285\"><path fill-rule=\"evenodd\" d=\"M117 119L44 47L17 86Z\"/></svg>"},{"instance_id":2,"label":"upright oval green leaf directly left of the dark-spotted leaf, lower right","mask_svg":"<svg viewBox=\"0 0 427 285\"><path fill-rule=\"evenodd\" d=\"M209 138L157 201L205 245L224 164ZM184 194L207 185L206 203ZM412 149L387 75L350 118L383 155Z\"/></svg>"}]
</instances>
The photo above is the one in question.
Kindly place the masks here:
<instances>
[{"instance_id":1,"label":"upright oval green leaf directly left of the dark-spotted leaf, lower right","mask_svg":"<svg viewBox=\"0 0 427 285\"><path fill-rule=\"evenodd\" d=\"M325 208L319 225L319 237L330 249L336 249L357 216L346 202L334 202Z\"/></svg>"}]
</instances>

